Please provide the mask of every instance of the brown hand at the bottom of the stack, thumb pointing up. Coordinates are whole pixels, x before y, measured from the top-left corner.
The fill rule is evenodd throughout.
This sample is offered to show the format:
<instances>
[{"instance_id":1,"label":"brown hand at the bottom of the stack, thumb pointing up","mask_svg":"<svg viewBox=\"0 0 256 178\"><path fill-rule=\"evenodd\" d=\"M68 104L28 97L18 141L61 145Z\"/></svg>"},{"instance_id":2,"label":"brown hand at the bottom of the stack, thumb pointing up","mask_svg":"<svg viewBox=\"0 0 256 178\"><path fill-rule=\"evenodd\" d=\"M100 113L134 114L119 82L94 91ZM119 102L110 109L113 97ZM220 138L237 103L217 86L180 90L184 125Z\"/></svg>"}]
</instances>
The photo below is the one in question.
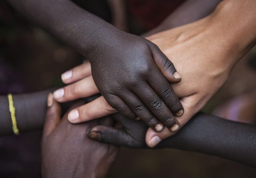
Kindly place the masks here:
<instances>
[{"instance_id":1,"label":"brown hand at the bottom of the stack, thumb pointing up","mask_svg":"<svg viewBox=\"0 0 256 178\"><path fill-rule=\"evenodd\" d=\"M111 120L73 125L67 114L60 118L61 109L52 94L48 96L48 106L42 138L43 177L105 177L118 147L95 142L87 133L98 124L111 126Z\"/></svg>"}]
</instances>

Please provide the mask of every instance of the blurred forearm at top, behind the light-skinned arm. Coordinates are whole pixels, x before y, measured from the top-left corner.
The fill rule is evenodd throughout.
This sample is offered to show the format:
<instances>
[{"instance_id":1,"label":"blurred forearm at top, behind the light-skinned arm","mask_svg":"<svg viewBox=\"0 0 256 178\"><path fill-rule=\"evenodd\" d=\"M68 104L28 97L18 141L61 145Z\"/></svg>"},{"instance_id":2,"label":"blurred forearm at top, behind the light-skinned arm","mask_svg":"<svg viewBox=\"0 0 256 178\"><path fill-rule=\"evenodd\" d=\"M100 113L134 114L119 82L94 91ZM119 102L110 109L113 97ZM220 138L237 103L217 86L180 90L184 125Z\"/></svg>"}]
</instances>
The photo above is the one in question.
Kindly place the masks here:
<instances>
[{"instance_id":1,"label":"blurred forearm at top, behind the light-skinned arm","mask_svg":"<svg viewBox=\"0 0 256 178\"><path fill-rule=\"evenodd\" d=\"M212 13L222 0L187 0L169 15L160 25L143 36L149 36L180 25L189 24Z\"/></svg>"}]
</instances>

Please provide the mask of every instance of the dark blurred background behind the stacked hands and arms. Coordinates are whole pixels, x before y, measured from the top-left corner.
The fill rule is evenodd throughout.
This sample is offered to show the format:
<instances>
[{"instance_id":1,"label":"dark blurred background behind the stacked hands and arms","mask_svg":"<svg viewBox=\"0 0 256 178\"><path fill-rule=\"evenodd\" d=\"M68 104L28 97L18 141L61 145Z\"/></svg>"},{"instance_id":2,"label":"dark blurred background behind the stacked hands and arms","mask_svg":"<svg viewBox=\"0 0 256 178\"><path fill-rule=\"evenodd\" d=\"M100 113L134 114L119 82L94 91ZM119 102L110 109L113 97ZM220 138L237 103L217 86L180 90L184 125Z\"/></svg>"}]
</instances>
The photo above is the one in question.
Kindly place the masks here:
<instances>
[{"instance_id":1,"label":"dark blurred background behind the stacked hands and arms","mask_svg":"<svg viewBox=\"0 0 256 178\"><path fill-rule=\"evenodd\" d=\"M156 27L185 0L74 0L119 29L141 35ZM0 2L0 94L63 86L61 73L83 56ZM234 110L234 105L236 109ZM234 68L228 82L203 109L223 118L255 124L256 48ZM41 131L0 138L0 177L41 177ZM235 145L234 145L235 146ZM246 145L245 145L246 146ZM108 178L255 177L256 169L215 156L178 151L122 148Z\"/></svg>"}]
</instances>

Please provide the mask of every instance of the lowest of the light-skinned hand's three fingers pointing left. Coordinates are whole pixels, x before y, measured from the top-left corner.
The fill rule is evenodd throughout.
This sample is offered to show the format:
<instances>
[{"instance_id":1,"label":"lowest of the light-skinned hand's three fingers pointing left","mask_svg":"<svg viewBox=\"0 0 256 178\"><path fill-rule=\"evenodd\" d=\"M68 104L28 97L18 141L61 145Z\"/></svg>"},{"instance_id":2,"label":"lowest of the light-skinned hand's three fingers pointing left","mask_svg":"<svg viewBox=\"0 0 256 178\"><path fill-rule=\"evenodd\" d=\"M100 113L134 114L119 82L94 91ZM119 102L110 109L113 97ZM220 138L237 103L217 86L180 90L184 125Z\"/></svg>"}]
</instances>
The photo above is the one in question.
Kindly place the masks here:
<instances>
[{"instance_id":1,"label":"lowest of the light-skinned hand's three fingers pointing left","mask_svg":"<svg viewBox=\"0 0 256 178\"><path fill-rule=\"evenodd\" d=\"M109 114L116 113L117 111L111 107L103 96L100 96L85 105L73 109L68 114L68 119L72 123L86 122Z\"/></svg>"}]
</instances>

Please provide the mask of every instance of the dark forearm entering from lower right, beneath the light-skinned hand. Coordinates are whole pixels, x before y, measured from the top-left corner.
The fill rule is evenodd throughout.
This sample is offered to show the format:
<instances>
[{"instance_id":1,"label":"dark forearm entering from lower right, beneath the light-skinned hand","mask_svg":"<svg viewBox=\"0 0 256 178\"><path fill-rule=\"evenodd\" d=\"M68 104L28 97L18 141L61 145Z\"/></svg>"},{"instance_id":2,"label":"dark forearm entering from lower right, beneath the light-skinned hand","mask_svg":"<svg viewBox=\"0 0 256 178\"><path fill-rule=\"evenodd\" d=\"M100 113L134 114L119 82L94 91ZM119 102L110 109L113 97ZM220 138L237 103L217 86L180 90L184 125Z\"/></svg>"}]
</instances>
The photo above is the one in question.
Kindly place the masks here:
<instances>
[{"instance_id":1,"label":"dark forearm entering from lower right, beneath the light-skinned hand","mask_svg":"<svg viewBox=\"0 0 256 178\"><path fill-rule=\"evenodd\" d=\"M256 127L198 113L160 147L220 156L256 167Z\"/></svg>"}]
</instances>

